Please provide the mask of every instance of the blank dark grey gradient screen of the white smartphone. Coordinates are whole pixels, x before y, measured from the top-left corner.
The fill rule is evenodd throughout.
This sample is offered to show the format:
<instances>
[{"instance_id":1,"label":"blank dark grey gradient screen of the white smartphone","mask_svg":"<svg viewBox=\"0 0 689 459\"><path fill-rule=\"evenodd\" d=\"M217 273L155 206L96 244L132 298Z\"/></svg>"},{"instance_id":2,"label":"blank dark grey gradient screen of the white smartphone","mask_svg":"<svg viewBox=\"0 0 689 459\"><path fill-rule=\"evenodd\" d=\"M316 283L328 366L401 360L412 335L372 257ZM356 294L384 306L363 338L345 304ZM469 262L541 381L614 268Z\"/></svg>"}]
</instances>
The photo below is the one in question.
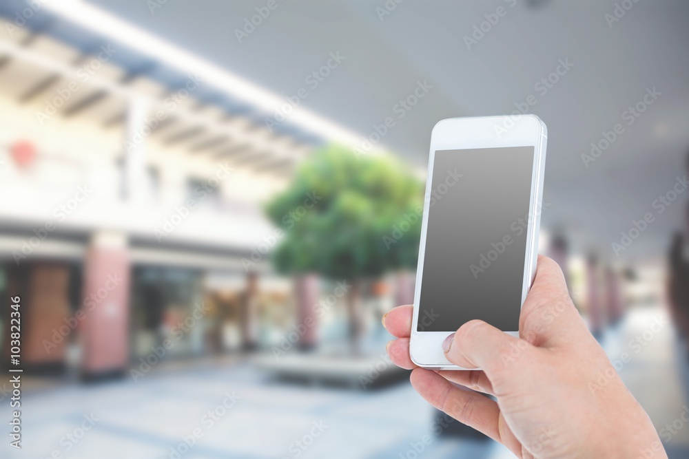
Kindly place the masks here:
<instances>
[{"instance_id":1,"label":"blank dark grey gradient screen of the white smartphone","mask_svg":"<svg viewBox=\"0 0 689 459\"><path fill-rule=\"evenodd\" d=\"M435 151L418 331L519 330L533 160L534 147Z\"/></svg>"}]
</instances>

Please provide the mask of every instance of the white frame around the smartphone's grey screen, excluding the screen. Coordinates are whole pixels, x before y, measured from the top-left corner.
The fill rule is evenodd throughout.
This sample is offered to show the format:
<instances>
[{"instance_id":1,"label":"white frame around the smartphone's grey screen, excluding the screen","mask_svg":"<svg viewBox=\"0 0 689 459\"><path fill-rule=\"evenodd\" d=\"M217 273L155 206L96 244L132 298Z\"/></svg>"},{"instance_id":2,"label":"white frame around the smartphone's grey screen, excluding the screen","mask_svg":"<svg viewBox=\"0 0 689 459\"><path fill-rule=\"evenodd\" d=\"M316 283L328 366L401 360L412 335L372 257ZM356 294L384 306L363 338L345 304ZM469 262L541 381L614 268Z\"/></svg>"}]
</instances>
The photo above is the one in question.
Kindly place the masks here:
<instances>
[{"instance_id":1,"label":"white frame around the smartphone's grey screen, excluding the screen","mask_svg":"<svg viewBox=\"0 0 689 459\"><path fill-rule=\"evenodd\" d=\"M424 196L421 239L419 247L416 284L414 289L414 314L411 325L409 354L411 361L420 367L440 370L467 370L457 367L445 359L442 341L452 332L418 332L419 301L422 288L423 261L426 246L429 203L432 192L433 160L435 151L478 149L495 147L534 147L533 171L531 173L531 196L529 218L526 228L526 254L524 257L524 279L522 281L522 302L526 299L536 271L538 257L538 234L542 210L544 166L546 158L546 125L535 115L484 116L473 118L447 118L440 120L431 132L428 179ZM518 331L505 331L519 336ZM473 369L472 369L473 370Z\"/></svg>"}]
</instances>

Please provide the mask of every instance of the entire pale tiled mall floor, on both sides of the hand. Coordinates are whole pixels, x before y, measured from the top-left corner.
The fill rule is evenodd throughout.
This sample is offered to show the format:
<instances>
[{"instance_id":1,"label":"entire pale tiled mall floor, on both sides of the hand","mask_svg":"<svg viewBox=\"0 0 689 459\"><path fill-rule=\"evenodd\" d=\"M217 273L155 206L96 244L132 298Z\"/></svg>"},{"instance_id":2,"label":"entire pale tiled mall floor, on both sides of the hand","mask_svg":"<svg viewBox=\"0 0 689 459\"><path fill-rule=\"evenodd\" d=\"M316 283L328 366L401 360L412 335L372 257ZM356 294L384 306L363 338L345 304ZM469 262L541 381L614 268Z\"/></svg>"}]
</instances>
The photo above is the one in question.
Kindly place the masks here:
<instances>
[{"instance_id":1,"label":"entire pale tiled mall floor, on both sides of the hand","mask_svg":"<svg viewBox=\"0 0 689 459\"><path fill-rule=\"evenodd\" d=\"M648 328L655 310L637 311L606 334L611 359ZM655 334L621 374L656 427L684 401L671 327ZM686 359L683 359L686 362ZM161 365L162 366L162 365ZM229 394L229 397L225 394ZM236 403L232 405L232 399ZM223 406L223 401L228 407ZM230 406L232 405L232 406ZM209 412L214 412L212 416ZM0 409L8 418L7 405ZM84 416L97 419L92 429ZM301 387L267 380L251 362L166 365L138 383L41 388L23 399L23 450L3 458L511 458L494 442L432 436L433 412L409 383L376 391ZM6 425L3 422L3 425ZM3 438L7 438L3 427ZM196 438L190 437L196 435ZM422 445L425 434L433 438ZM192 443L187 446L185 443ZM689 457L689 428L668 449ZM422 450L421 450L422 448ZM61 454L62 456L58 455Z\"/></svg>"}]
</instances>

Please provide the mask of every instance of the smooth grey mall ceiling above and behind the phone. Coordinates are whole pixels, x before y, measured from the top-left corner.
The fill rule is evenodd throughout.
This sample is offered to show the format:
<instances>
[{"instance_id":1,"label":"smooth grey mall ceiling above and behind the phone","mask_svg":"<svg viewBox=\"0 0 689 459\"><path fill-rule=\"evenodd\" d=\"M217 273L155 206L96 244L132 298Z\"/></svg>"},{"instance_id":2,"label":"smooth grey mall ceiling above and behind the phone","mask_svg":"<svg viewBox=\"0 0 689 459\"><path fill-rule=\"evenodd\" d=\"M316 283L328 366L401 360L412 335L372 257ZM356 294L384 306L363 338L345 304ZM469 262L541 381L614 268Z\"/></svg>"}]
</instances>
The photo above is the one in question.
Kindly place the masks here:
<instances>
[{"instance_id":1,"label":"smooth grey mall ceiling above and behind the phone","mask_svg":"<svg viewBox=\"0 0 689 459\"><path fill-rule=\"evenodd\" d=\"M268 0L90 3L276 94L306 88L300 103L362 136L393 116L382 144L422 167L438 120L507 114L533 96L528 111L549 131L545 199L553 210L544 220L581 250L609 254L620 231L684 173L684 1L629 2L629 10L579 0L276 0L273 10ZM246 24L256 8L265 18L252 30ZM331 54L343 58L317 84L316 76L309 81ZM429 89L418 103L400 105L419 84ZM652 88L660 95L628 124L628 107ZM582 153L617 123L624 133L586 167ZM684 209L670 206L624 255L664 252Z\"/></svg>"}]
</instances>

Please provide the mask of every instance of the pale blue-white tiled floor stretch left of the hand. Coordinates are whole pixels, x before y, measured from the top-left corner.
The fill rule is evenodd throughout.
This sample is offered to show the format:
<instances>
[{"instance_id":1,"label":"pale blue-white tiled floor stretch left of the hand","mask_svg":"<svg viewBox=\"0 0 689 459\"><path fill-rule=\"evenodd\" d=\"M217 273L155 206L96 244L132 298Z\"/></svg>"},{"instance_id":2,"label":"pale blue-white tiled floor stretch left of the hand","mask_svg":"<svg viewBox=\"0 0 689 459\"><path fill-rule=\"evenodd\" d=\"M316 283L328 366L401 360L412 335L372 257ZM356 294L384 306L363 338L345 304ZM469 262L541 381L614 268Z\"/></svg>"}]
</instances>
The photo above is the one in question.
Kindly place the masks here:
<instances>
[{"instance_id":1,"label":"pale blue-white tiled floor stretch left of the hand","mask_svg":"<svg viewBox=\"0 0 689 459\"><path fill-rule=\"evenodd\" d=\"M236 405L218 409L225 392L238 397ZM208 416L216 409L215 418ZM85 414L98 421L81 436ZM376 392L298 387L267 382L241 363L29 394L23 450L3 457L48 458L58 451L74 459L176 458L175 448L189 459L399 458L418 447L432 421L408 383ZM183 438L195 429L198 440L187 448ZM76 443L70 432L80 437ZM434 439L423 453L493 458L495 451L485 443Z\"/></svg>"}]
</instances>

